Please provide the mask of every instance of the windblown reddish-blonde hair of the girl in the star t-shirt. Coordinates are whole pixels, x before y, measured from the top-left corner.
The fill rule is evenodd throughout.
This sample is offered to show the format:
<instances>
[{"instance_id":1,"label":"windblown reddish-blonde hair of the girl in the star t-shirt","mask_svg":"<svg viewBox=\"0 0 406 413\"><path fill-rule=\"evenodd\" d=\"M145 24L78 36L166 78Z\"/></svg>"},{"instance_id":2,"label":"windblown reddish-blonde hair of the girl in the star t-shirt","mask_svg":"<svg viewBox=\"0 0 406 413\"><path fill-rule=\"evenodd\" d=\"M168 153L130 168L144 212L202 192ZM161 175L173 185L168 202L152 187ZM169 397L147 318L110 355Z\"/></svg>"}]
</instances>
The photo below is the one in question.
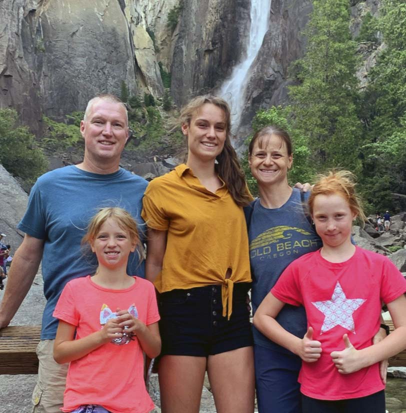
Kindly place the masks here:
<instances>
[{"instance_id":1,"label":"windblown reddish-blonde hair of the girl in the star t-shirt","mask_svg":"<svg viewBox=\"0 0 406 413\"><path fill-rule=\"evenodd\" d=\"M349 170L330 170L327 175L319 175L307 201L310 215L313 214L314 199L317 195L337 193L348 202L352 213L356 214L362 222L366 221L361 199L355 192L355 185L355 175Z\"/></svg>"}]
</instances>

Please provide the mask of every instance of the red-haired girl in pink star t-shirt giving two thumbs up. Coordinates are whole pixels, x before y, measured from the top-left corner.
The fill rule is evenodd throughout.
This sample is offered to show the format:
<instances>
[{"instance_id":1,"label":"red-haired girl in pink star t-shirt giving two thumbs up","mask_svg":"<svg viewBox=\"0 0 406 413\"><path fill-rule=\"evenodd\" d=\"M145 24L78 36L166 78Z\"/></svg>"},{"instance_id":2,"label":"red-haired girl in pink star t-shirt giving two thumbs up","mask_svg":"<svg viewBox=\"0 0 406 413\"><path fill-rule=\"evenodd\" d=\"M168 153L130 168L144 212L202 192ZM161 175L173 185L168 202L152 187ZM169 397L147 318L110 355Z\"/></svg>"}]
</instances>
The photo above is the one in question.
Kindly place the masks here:
<instances>
[{"instance_id":1,"label":"red-haired girl in pink star t-shirt giving two thumbs up","mask_svg":"<svg viewBox=\"0 0 406 413\"><path fill-rule=\"evenodd\" d=\"M254 315L254 325L302 359L303 413L384 413L379 361L406 347L406 280L385 256L351 243L356 216L365 219L350 172L330 172L314 185L308 209L322 247L293 261ZM395 331L372 345L385 302ZM276 317L284 304L303 305L303 338Z\"/></svg>"}]
</instances>

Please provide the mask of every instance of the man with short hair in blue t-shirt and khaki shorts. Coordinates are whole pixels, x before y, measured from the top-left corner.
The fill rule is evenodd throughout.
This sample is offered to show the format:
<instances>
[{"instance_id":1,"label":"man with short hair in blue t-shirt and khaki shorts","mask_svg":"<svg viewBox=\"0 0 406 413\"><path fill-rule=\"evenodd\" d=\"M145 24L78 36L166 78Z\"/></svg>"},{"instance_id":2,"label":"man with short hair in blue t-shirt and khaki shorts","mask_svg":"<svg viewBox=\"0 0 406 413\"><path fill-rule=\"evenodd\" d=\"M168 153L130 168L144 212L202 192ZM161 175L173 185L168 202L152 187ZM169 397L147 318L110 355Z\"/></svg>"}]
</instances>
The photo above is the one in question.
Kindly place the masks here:
<instances>
[{"instance_id":1,"label":"man with short hair in blue t-shirt and khaki shorts","mask_svg":"<svg viewBox=\"0 0 406 413\"><path fill-rule=\"evenodd\" d=\"M141 222L141 198L147 182L119 167L128 139L124 104L112 95L94 97L87 104L80 132L83 162L45 173L31 189L27 210L18 224L25 237L14 254L0 307L1 328L21 304L42 258L46 305L37 347L33 412L56 413L62 406L67 364L53 360L57 319L52 312L67 281L95 270L96 262L80 249L89 218L100 207L121 206ZM130 257L127 271L143 276L137 254Z\"/></svg>"}]
</instances>

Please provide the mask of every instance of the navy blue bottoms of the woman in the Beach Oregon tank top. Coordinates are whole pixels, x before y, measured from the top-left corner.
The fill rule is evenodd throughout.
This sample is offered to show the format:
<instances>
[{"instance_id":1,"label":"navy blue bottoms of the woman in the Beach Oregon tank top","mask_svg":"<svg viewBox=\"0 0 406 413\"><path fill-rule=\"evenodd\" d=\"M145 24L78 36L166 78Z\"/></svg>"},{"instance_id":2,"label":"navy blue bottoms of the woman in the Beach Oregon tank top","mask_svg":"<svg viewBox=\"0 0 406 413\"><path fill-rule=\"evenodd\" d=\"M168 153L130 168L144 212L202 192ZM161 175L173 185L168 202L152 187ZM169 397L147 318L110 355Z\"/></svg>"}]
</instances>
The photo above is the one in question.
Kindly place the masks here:
<instances>
[{"instance_id":1,"label":"navy blue bottoms of the woman in the Beach Oregon tank top","mask_svg":"<svg viewBox=\"0 0 406 413\"><path fill-rule=\"evenodd\" d=\"M254 344L258 413L301 413L301 359L288 352Z\"/></svg>"}]
</instances>

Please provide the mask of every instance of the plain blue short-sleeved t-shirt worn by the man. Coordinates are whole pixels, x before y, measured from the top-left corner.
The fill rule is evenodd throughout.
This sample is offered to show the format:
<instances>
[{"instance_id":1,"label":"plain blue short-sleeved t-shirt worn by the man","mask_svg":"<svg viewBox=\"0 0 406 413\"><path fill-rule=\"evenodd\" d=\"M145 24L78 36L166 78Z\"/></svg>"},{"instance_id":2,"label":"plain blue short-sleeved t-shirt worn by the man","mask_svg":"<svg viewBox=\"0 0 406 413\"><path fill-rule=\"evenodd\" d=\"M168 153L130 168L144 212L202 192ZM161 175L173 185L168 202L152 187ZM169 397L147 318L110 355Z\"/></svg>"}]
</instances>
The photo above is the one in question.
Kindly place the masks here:
<instances>
[{"instance_id":1,"label":"plain blue short-sleeved t-shirt worn by the man","mask_svg":"<svg viewBox=\"0 0 406 413\"><path fill-rule=\"evenodd\" d=\"M52 312L66 282L94 272L94 254L83 253L80 241L89 219L105 206L126 209L141 225L142 196L147 181L119 168L109 174L86 172L76 166L40 176L31 189L27 210L18 228L44 240L43 291L46 298L41 339L55 338L58 320ZM144 277L138 254L129 256L127 273Z\"/></svg>"}]
</instances>

